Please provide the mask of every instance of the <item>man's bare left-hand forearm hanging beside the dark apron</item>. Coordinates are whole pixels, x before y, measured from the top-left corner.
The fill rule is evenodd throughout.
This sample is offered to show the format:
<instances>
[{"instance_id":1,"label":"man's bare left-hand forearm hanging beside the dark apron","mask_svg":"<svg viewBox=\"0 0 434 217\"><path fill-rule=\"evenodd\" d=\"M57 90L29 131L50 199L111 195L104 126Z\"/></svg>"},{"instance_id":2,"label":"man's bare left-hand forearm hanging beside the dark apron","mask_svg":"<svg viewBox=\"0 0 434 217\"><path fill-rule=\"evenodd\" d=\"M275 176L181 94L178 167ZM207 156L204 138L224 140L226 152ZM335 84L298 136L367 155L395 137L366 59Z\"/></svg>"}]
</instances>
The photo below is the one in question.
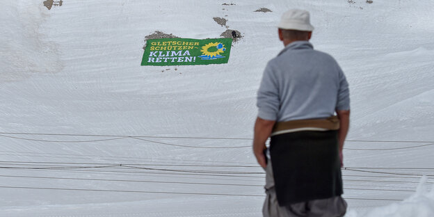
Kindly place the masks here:
<instances>
[{"instance_id":1,"label":"man's bare left-hand forearm hanging beside the dark apron","mask_svg":"<svg viewBox=\"0 0 434 217\"><path fill-rule=\"evenodd\" d=\"M264 150L266 148L265 142L271 135L275 120L264 120L257 118L255 122L255 136L253 138L253 153L262 168L266 167L266 156Z\"/></svg>"}]
</instances>

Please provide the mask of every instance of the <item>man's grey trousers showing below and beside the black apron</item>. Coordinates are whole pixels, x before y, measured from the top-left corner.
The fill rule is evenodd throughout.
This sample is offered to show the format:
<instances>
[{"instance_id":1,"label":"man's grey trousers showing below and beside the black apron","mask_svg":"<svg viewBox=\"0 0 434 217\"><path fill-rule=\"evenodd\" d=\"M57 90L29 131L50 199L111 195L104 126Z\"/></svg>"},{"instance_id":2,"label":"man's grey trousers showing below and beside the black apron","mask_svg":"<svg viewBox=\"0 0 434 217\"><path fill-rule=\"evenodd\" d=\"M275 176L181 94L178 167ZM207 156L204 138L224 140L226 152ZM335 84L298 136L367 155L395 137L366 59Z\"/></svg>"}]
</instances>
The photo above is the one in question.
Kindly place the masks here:
<instances>
[{"instance_id":1,"label":"man's grey trousers showing below and beside the black apron","mask_svg":"<svg viewBox=\"0 0 434 217\"><path fill-rule=\"evenodd\" d=\"M275 193L273 169L268 159L266 166L266 199L262 214L264 217L340 217L346 213L346 202L340 196L322 200L310 200L280 207Z\"/></svg>"}]
</instances>

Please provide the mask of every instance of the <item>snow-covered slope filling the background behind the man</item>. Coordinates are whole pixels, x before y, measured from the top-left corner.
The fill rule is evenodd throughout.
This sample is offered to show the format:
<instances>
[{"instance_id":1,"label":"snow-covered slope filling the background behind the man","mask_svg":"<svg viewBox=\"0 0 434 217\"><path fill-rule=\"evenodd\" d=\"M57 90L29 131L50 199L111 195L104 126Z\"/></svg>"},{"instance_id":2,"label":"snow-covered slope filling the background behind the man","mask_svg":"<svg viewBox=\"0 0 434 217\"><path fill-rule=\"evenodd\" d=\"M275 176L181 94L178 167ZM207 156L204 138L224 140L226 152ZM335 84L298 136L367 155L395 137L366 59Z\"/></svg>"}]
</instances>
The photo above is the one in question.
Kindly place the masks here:
<instances>
[{"instance_id":1,"label":"snow-covered slope filling the background behind the man","mask_svg":"<svg viewBox=\"0 0 434 217\"><path fill-rule=\"evenodd\" d=\"M288 8L350 83L346 216L434 216L433 1L0 1L0 216L261 216L255 95ZM140 66L146 35L218 38L213 17L244 36L229 63Z\"/></svg>"}]
</instances>

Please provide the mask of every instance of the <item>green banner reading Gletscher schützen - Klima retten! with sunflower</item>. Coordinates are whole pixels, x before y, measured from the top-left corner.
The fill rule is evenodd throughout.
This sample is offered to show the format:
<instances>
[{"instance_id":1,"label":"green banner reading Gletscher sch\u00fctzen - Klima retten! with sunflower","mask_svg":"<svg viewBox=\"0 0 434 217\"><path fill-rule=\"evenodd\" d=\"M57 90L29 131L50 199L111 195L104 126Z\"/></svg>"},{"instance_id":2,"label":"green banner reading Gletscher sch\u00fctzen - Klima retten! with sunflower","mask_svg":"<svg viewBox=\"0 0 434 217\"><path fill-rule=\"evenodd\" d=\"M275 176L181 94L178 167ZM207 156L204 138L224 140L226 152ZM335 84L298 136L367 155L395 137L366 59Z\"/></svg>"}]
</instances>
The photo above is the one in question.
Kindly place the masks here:
<instances>
[{"instance_id":1,"label":"green banner reading Gletscher sch\u00fctzen - Klima retten! with sunflower","mask_svg":"<svg viewBox=\"0 0 434 217\"><path fill-rule=\"evenodd\" d=\"M161 38L146 42L141 65L208 65L229 61L232 38Z\"/></svg>"}]
</instances>

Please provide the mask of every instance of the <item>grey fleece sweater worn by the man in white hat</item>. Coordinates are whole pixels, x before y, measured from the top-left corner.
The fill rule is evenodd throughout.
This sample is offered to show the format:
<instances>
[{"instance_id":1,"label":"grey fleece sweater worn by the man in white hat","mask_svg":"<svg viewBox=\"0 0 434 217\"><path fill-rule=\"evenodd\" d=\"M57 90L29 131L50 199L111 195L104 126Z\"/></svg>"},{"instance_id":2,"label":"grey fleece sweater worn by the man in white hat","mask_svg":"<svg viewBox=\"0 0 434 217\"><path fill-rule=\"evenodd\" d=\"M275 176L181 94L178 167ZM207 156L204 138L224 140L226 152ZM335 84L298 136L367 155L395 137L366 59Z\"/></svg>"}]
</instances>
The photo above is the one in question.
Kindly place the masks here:
<instances>
[{"instance_id":1,"label":"grey fleece sweater worn by the man in white hat","mask_svg":"<svg viewBox=\"0 0 434 217\"><path fill-rule=\"evenodd\" d=\"M328 118L350 109L348 82L332 56L292 42L266 65L257 106L265 120Z\"/></svg>"}]
</instances>

